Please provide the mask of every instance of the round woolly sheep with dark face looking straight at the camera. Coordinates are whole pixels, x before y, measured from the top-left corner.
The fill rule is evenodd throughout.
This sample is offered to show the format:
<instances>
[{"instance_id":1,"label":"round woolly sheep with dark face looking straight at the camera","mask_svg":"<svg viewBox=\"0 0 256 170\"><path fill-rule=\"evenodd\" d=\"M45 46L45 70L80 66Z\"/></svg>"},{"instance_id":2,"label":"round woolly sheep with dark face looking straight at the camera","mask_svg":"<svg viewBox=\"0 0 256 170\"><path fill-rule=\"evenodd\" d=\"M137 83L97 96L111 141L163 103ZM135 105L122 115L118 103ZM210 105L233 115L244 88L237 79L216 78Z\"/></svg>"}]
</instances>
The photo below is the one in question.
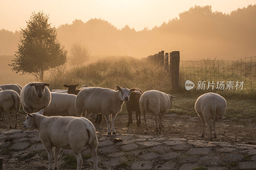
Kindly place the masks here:
<instances>
[{"instance_id":1,"label":"round woolly sheep with dark face looking straight at the camera","mask_svg":"<svg viewBox=\"0 0 256 170\"><path fill-rule=\"evenodd\" d=\"M30 82L21 90L21 104L25 112L33 113L33 109L45 109L51 101L50 84Z\"/></svg>"}]
</instances>

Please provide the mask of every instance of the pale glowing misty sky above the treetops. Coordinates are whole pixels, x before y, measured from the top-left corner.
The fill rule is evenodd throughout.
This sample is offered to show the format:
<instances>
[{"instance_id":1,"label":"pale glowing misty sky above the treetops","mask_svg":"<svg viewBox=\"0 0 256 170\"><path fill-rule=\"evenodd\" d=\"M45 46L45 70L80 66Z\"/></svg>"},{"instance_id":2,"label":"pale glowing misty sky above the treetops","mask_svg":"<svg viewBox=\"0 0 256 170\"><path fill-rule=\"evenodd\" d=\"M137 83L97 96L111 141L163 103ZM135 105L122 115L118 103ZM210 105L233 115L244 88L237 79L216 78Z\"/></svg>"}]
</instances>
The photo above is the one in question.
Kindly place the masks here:
<instances>
[{"instance_id":1,"label":"pale glowing misty sky above the treetops","mask_svg":"<svg viewBox=\"0 0 256 170\"><path fill-rule=\"evenodd\" d=\"M75 19L101 18L118 29L129 25L139 31L168 22L194 5L212 5L213 11L229 13L249 4L256 0L0 0L0 29L20 30L33 11L44 11L56 27Z\"/></svg>"}]
</instances>

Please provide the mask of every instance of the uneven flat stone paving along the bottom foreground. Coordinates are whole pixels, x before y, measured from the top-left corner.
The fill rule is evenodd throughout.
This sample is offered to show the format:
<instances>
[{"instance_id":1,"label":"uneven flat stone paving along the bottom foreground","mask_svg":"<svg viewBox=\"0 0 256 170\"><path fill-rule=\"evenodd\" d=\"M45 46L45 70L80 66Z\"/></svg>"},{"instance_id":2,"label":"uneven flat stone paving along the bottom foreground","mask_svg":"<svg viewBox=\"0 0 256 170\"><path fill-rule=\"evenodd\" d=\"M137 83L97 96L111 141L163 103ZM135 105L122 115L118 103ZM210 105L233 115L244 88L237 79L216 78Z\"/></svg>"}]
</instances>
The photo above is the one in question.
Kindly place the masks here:
<instances>
[{"instance_id":1,"label":"uneven flat stone paving along the bottom foreground","mask_svg":"<svg viewBox=\"0 0 256 170\"><path fill-rule=\"evenodd\" d=\"M209 170L221 169L256 169L256 145L231 144L227 142L207 142L186 140L184 138L165 138L149 135L107 135L97 132L98 166L99 169L194 169L204 166ZM121 138L122 142L116 142ZM115 143L116 142L116 143ZM10 148L10 153L2 151ZM4 158L4 169L10 169L8 164L17 164L15 158L26 159L29 153L33 158L45 162L47 157L43 144L38 137L37 130L1 130L0 157ZM71 150L61 149L61 158L72 154ZM82 154L90 154L84 148ZM8 156L7 156L8 155ZM84 160L91 169L92 158ZM18 167L17 166L17 167ZM25 165L24 165L25 166ZM61 165L59 166L60 169Z\"/></svg>"}]
</instances>

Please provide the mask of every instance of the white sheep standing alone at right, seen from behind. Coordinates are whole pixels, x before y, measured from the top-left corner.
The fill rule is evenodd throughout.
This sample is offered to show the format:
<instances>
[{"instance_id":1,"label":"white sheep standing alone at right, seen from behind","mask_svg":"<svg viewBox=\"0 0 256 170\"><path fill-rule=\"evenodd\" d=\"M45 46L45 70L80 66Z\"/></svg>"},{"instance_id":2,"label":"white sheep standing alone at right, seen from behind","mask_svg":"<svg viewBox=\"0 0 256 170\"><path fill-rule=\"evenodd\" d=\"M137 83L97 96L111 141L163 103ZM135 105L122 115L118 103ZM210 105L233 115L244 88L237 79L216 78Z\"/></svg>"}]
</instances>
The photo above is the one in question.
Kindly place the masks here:
<instances>
[{"instance_id":1,"label":"white sheep standing alone at right, seen from behind","mask_svg":"<svg viewBox=\"0 0 256 170\"><path fill-rule=\"evenodd\" d=\"M217 93L205 93L198 97L195 104L195 110L201 119L203 130L201 137L204 137L205 122L209 128L209 140L212 141L212 127L214 138L217 138L215 131L215 122L222 119L227 108L227 102L224 97ZM211 120L212 126L211 126Z\"/></svg>"}]
</instances>

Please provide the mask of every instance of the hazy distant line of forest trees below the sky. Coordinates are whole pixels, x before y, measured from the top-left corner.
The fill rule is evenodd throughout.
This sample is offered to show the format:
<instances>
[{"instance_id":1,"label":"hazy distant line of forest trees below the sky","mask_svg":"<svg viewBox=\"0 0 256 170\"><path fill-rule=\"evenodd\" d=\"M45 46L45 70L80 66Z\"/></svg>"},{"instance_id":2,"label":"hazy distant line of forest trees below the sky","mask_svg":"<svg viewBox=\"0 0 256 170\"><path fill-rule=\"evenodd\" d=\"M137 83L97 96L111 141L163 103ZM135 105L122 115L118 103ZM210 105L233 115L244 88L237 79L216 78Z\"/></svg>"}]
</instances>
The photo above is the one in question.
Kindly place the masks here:
<instances>
[{"instance_id":1,"label":"hazy distant line of forest trees below the sky","mask_svg":"<svg viewBox=\"0 0 256 170\"><path fill-rule=\"evenodd\" d=\"M181 59L244 58L256 56L256 5L230 14L212 12L211 6L195 6L151 30L117 29L108 21L74 20L58 27L58 38L70 50L72 43L88 45L92 55L147 57L156 51L180 51ZM19 32L0 31L0 55L13 55Z\"/></svg>"}]
</instances>

